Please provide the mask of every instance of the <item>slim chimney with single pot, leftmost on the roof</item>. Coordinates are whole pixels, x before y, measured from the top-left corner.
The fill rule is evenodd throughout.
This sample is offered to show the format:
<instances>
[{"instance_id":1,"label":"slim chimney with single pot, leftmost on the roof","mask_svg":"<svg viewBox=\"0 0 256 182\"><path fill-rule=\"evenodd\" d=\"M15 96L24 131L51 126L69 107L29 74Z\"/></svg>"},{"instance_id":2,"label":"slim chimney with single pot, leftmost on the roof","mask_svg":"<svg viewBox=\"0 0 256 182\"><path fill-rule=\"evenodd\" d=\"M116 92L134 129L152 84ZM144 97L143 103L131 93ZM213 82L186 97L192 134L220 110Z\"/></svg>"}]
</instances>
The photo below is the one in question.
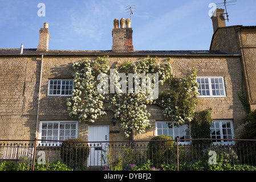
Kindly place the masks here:
<instances>
[{"instance_id":1,"label":"slim chimney with single pot, leftmost on the roof","mask_svg":"<svg viewBox=\"0 0 256 182\"><path fill-rule=\"evenodd\" d=\"M49 39L50 39L50 33L48 30L49 23L44 23L43 28L40 28L40 38L39 38L39 44L36 51L48 51L49 46Z\"/></svg>"}]
</instances>

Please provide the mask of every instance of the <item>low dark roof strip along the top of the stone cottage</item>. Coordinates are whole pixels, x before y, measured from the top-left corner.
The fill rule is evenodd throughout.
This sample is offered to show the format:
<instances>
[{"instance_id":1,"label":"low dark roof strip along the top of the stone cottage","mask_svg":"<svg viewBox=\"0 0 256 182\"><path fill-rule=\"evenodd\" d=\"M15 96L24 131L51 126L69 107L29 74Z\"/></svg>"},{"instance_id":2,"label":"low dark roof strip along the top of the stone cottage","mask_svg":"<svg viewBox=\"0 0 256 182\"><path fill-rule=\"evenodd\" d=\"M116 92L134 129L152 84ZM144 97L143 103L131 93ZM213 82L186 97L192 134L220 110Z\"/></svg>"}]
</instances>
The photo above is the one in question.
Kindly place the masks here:
<instances>
[{"instance_id":1,"label":"low dark roof strip along the top of the stone cottage","mask_svg":"<svg viewBox=\"0 0 256 182\"><path fill-rule=\"evenodd\" d=\"M200 51L70 51L48 50L38 52L36 49L0 49L0 56L240 56L232 52L200 50Z\"/></svg>"}]
</instances>

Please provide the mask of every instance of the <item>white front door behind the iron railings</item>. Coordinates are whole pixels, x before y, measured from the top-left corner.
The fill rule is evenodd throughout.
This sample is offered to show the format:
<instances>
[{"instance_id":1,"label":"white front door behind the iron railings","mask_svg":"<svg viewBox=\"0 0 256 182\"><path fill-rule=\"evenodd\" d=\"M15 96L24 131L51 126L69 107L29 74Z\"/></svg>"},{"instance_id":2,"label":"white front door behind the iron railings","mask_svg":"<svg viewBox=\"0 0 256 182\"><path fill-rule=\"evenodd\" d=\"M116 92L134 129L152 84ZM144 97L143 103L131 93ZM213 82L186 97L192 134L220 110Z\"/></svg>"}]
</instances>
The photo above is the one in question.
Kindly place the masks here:
<instances>
[{"instance_id":1,"label":"white front door behind the iron railings","mask_svg":"<svg viewBox=\"0 0 256 182\"><path fill-rule=\"evenodd\" d=\"M98 125L88 126L88 142L90 145L90 155L88 166L107 165L109 126ZM91 143L92 142L92 143Z\"/></svg>"}]
</instances>

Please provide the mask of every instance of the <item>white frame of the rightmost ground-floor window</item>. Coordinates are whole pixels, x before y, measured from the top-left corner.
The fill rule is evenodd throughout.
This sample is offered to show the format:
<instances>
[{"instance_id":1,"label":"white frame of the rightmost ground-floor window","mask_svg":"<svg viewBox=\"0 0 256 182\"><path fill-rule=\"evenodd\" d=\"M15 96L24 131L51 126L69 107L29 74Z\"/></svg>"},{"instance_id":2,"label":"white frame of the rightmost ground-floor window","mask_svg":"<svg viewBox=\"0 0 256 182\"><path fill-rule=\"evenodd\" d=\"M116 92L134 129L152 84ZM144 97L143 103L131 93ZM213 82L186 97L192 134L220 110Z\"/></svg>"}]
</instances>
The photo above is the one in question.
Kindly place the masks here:
<instances>
[{"instance_id":1,"label":"white frame of the rightmost ground-floor window","mask_svg":"<svg viewBox=\"0 0 256 182\"><path fill-rule=\"evenodd\" d=\"M222 143L222 144L234 144L234 140L226 140L224 139L224 133L223 133L223 128L222 128L222 125L225 123L225 122L230 122L230 130L231 130L231 139L234 139L234 127L233 127L233 121L231 119L214 119L213 120L214 122L214 129L216 128L216 122L219 122L219 128L220 128L220 139L216 139L216 140L220 140L220 142L215 142L215 138L213 140L213 143ZM212 123L212 125L213 125ZM213 127L210 127L211 129L211 138L212 138L212 130L213 130ZM213 138L212 138L213 139Z\"/></svg>"}]
</instances>

